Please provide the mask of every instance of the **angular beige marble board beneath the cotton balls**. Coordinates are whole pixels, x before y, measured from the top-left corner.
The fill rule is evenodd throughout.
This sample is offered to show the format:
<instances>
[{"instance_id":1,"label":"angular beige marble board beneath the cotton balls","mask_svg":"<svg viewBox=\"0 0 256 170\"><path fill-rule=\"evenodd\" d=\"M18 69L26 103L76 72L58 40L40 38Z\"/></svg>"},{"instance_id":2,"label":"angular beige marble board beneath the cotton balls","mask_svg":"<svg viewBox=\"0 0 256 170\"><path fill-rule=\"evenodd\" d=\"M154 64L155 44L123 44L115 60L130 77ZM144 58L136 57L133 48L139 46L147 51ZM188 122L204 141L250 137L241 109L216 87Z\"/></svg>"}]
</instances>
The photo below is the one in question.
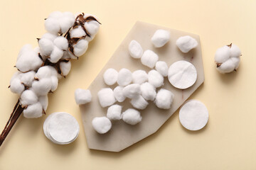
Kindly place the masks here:
<instances>
[{"instance_id":1,"label":"angular beige marble board beneath the cotton balls","mask_svg":"<svg viewBox=\"0 0 256 170\"><path fill-rule=\"evenodd\" d=\"M170 41L161 48L155 48L151 44L151 37L158 29L169 30L171 33ZM190 35L191 37L196 38L198 41L198 47L191 50L187 54L182 53L178 47L176 47L176 40L184 35ZM109 68L117 69L117 71L122 68L127 68L131 70L131 72L134 72L137 69L144 69L146 72L151 70L149 67L142 65L140 60L129 56L128 45L131 40L137 40L142 45L143 50L153 50L156 52L156 54L159 55L159 61L165 61L169 66L178 60L186 60L191 62L196 67L198 79L190 88L181 90L172 86L166 77L164 79L164 86L161 88L168 89L175 95L174 102L169 110L159 109L155 106L154 102L149 102L149 106L141 111L141 123L138 123L137 125L128 125L122 120L112 121L112 129L110 132L100 135L92 128L92 119L97 116L106 116L107 114L107 108L102 108L97 98L97 92L100 91L100 89L109 87L103 81L103 74L105 70ZM90 149L119 152L122 151L122 149L139 142L145 137L148 137L159 130L161 125L163 125L166 120L168 120L171 115L181 106L181 104L186 101L186 99L191 96L196 89L198 89L203 81L203 61L200 39L198 35L138 21L132 30L130 30L127 37L124 38L121 45L119 45L117 50L114 52L114 55L112 55L100 74L97 75L95 80L89 86L88 89L90 89L92 92L92 102L80 106L87 146ZM110 88L114 89L115 86L117 86L117 84L110 86ZM125 111L127 108L132 108L131 104L129 103L129 99L126 99L123 103L118 104L123 106L123 111Z\"/></svg>"}]
</instances>

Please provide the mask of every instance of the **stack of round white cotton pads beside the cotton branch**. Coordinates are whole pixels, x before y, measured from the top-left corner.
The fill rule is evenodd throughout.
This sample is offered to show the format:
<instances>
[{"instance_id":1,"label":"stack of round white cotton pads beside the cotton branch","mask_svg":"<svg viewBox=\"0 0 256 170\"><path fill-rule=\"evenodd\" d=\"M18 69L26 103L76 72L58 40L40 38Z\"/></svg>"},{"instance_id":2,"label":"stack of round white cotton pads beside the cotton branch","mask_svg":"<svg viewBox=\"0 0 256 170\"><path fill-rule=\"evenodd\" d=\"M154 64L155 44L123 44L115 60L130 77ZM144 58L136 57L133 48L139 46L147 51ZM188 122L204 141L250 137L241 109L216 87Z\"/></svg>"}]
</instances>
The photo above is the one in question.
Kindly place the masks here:
<instances>
[{"instance_id":1,"label":"stack of round white cotton pads beside the cotton branch","mask_svg":"<svg viewBox=\"0 0 256 170\"><path fill-rule=\"evenodd\" d=\"M79 124L69 113L52 113L43 123L43 132L55 144L67 145L75 141L79 134Z\"/></svg>"}]
</instances>

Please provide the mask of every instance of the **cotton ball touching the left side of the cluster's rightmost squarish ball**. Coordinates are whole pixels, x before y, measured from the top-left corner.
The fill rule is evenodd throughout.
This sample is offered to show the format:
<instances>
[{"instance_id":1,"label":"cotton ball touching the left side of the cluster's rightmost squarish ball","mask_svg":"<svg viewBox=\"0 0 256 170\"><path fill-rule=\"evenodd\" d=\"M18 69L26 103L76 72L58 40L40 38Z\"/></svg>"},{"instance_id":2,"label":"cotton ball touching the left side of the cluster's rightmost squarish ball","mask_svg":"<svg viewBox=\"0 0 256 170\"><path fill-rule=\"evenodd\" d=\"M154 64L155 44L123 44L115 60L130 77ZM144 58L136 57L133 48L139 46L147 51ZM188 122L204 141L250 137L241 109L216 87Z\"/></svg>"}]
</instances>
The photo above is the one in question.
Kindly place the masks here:
<instances>
[{"instance_id":1,"label":"cotton ball touching the left side of the cluster's rightmost squarish ball","mask_svg":"<svg viewBox=\"0 0 256 170\"><path fill-rule=\"evenodd\" d=\"M156 98L156 88L145 82L141 85L142 97L145 98L147 101L154 101Z\"/></svg>"}]
</instances>

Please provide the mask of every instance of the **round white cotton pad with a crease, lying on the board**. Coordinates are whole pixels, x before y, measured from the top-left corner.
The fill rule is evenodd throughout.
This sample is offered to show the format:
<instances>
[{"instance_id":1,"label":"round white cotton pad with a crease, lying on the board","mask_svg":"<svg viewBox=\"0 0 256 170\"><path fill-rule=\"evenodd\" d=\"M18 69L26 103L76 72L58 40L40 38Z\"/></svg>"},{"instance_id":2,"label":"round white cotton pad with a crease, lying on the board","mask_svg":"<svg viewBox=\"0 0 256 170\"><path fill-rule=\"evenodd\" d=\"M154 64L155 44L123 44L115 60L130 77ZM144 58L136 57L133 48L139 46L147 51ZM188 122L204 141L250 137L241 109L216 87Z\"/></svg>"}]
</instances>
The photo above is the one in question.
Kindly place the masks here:
<instances>
[{"instance_id":1,"label":"round white cotton pad with a crease, lying on the board","mask_svg":"<svg viewBox=\"0 0 256 170\"><path fill-rule=\"evenodd\" d=\"M184 60L174 62L174 64L171 64L169 67L168 79L176 88L187 89L196 82L196 67Z\"/></svg>"}]
</instances>

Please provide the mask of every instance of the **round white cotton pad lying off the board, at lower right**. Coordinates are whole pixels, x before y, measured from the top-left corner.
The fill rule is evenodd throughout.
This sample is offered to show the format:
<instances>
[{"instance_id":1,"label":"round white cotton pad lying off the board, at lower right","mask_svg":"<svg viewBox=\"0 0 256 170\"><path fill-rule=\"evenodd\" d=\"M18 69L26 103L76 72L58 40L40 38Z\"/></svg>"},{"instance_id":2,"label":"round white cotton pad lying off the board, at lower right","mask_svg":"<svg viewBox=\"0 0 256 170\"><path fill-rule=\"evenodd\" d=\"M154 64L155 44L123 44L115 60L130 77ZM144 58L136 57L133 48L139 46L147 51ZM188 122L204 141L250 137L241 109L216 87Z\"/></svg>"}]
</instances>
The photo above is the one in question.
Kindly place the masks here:
<instances>
[{"instance_id":1,"label":"round white cotton pad lying off the board, at lower right","mask_svg":"<svg viewBox=\"0 0 256 170\"><path fill-rule=\"evenodd\" d=\"M181 125L188 130L201 130L208 122L209 114L201 101L187 101L179 111Z\"/></svg>"}]
</instances>

